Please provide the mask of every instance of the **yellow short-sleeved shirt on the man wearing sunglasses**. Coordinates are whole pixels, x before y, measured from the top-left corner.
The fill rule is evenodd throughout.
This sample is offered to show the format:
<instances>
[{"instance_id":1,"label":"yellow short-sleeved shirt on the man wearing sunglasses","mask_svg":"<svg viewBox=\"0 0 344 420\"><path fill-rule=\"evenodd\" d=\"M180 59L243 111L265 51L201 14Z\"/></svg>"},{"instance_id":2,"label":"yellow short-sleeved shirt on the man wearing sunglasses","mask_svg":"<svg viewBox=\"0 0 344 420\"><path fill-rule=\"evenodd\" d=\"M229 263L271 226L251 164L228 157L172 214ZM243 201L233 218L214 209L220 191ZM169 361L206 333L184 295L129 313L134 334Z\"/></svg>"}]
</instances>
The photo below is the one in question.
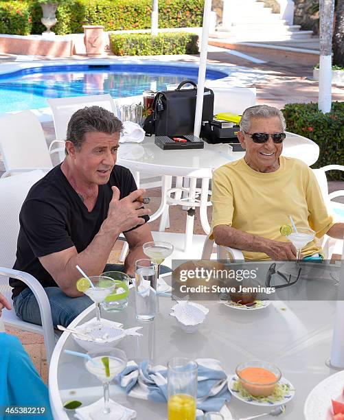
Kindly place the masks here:
<instances>
[{"instance_id":1,"label":"yellow short-sleeved shirt on the man wearing sunglasses","mask_svg":"<svg viewBox=\"0 0 344 420\"><path fill-rule=\"evenodd\" d=\"M212 195L215 226L227 224L239 231L288 242L279 233L282 224L310 226L318 238L334 224L323 201L321 190L310 167L298 159L279 157L279 169L262 173L253 170L244 159L219 167L213 175ZM302 253L321 253L317 239ZM265 253L243 251L245 259L268 259Z\"/></svg>"}]
</instances>

